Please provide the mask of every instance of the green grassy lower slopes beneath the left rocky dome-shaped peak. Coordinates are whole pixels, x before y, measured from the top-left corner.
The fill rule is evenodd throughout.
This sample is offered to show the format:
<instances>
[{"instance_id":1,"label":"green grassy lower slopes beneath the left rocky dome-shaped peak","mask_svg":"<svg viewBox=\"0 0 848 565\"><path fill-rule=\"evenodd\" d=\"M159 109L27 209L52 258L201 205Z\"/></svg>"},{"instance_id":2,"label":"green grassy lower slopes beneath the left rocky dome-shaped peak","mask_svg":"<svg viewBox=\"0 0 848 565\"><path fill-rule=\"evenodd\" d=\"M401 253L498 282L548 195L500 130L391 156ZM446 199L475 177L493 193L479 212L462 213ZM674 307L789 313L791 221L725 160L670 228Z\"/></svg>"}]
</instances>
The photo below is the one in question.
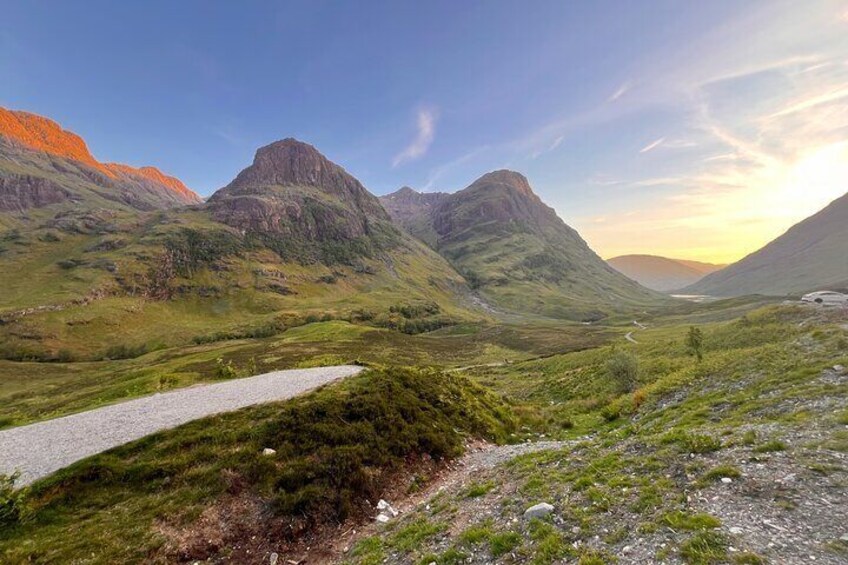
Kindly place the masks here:
<instances>
[{"instance_id":1,"label":"green grassy lower slopes beneath the left rocky dome-shaped peak","mask_svg":"<svg viewBox=\"0 0 848 565\"><path fill-rule=\"evenodd\" d=\"M7 231L0 284L10 359L98 359L115 347L268 335L323 317L409 326L390 312L404 303L437 305L416 316L429 320L421 330L484 316L469 310L462 278L408 237L370 257L285 262L202 210Z\"/></svg>"}]
</instances>

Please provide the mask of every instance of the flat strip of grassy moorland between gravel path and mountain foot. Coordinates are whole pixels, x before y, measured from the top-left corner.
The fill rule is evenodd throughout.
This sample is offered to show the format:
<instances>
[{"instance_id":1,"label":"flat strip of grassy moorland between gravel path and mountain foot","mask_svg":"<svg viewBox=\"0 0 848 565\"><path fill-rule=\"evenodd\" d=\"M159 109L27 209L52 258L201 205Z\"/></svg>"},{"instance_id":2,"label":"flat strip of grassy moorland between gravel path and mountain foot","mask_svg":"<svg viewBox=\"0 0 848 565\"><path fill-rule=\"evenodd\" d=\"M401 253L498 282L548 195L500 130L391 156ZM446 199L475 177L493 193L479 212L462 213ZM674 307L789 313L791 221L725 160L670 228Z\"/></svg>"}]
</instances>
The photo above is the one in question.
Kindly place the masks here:
<instances>
[{"instance_id":1,"label":"flat strip of grassy moorland between gravel path and mountain foot","mask_svg":"<svg viewBox=\"0 0 848 565\"><path fill-rule=\"evenodd\" d=\"M462 324L426 334L342 320L295 326L264 338L219 341L138 352L94 362L0 361L0 429L154 394L276 369L365 363L372 366L461 367L503 363L594 347L603 328ZM220 360L220 361L219 361Z\"/></svg>"}]
</instances>

